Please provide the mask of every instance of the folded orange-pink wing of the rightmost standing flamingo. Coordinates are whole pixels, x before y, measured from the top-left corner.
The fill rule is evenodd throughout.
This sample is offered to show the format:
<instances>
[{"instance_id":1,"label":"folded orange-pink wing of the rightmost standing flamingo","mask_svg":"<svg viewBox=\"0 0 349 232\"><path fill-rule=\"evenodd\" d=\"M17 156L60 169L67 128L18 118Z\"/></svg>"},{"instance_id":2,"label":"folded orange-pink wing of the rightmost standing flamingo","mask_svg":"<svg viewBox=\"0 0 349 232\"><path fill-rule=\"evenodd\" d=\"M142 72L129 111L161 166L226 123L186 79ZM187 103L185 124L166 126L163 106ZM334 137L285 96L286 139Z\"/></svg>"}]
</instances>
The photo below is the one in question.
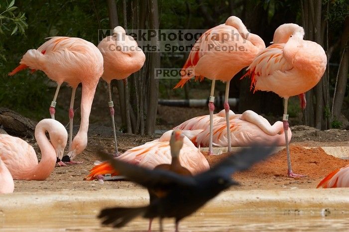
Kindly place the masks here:
<instances>
[{"instance_id":1,"label":"folded orange-pink wing of the rightmost standing flamingo","mask_svg":"<svg viewBox=\"0 0 349 232\"><path fill-rule=\"evenodd\" d=\"M252 83L255 84L255 76L266 77L276 71L285 72L291 70L293 65L283 56L284 43L272 44L261 51L246 69Z\"/></svg>"}]
</instances>

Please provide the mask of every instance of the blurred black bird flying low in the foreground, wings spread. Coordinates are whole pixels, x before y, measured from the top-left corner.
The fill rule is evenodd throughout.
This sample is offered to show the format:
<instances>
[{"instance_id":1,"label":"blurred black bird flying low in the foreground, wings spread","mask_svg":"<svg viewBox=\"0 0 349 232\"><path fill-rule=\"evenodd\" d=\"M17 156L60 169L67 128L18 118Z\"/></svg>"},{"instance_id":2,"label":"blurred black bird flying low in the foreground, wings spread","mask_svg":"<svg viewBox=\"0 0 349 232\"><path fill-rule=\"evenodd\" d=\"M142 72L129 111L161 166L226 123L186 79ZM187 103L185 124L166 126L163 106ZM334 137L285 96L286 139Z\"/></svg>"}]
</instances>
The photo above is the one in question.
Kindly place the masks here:
<instances>
[{"instance_id":1,"label":"blurred black bird flying low in the foreground, wings spread","mask_svg":"<svg viewBox=\"0 0 349 232\"><path fill-rule=\"evenodd\" d=\"M238 184L232 179L234 172L246 170L253 163L266 158L273 150L274 147L260 145L243 148L236 154L232 153L212 169L195 176L183 176L162 169L147 169L122 162L110 154L99 151L101 158L108 160L120 175L162 194L148 206L107 208L101 211L98 218L102 219L104 225L120 228L137 216L147 219L159 217L160 231L163 218L174 218L178 231L180 220L194 213L223 190Z\"/></svg>"}]
</instances>

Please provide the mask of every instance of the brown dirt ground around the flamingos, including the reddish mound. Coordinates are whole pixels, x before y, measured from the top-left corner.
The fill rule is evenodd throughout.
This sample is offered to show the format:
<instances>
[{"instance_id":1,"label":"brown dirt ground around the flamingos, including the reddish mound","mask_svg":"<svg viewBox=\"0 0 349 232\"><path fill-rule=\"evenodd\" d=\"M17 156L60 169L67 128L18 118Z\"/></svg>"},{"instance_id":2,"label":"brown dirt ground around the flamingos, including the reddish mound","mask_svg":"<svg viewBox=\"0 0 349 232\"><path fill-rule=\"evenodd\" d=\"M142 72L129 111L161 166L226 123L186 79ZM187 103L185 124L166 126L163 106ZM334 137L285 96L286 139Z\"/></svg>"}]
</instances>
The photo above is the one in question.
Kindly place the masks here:
<instances>
[{"instance_id":1,"label":"brown dirt ground around the flamingos, including the reddish mound","mask_svg":"<svg viewBox=\"0 0 349 232\"><path fill-rule=\"evenodd\" d=\"M197 110L202 115L201 110ZM161 109L160 109L161 114ZM186 115L189 117L189 114ZM186 116L181 116L184 120ZM193 116L191 112L190 117ZM175 118L175 117L174 117ZM307 177L291 179L286 177L287 163L285 150L279 151L270 159L253 166L249 171L237 173L234 178L240 186L232 189L293 189L293 188L315 188L327 173L334 169L345 166L349 163L346 159L339 159L327 155L321 148L306 150L302 146L349 146L349 131L331 129L319 131L308 126L292 127L291 159L295 173L306 174ZM156 137L156 136L155 136ZM119 151L123 152L131 147L151 141L155 137L139 136L131 134L118 134L117 142ZM30 142L34 149L39 149L35 140ZM84 181L89 170L98 160L96 150L103 147L108 152L114 151L112 131L109 127L90 126L89 142L87 149L76 158L82 164L69 165L67 167L56 167L46 181L15 181L15 192L35 191L62 191L62 190L101 190L112 188L141 188L140 186L127 181ZM348 154L349 156L349 154ZM210 165L219 162L224 155L207 157Z\"/></svg>"}]
</instances>

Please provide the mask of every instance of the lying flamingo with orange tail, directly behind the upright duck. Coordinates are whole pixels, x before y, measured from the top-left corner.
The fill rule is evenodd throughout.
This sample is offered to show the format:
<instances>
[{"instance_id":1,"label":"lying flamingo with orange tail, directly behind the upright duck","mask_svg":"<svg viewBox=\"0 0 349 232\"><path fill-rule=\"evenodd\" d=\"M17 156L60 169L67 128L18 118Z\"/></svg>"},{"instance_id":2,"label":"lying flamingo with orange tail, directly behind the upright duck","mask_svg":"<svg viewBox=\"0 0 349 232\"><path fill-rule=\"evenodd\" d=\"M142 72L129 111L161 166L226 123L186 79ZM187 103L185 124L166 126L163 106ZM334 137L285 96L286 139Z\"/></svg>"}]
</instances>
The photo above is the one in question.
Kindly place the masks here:
<instances>
[{"instance_id":1,"label":"lying flamingo with orange tail, directly behind the upright duck","mask_svg":"<svg viewBox=\"0 0 349 232\"><path fill-rule=\"evenodd\" d=\"M150 169L153 169L159 164L170 164L172 156L169 141L172 131L165 132L159 139L125 151L117 159ZM210 169L205 156L187 137L183 139L183 147L179 154L180 164L193 173L193 175ZM87 180L103 179L103 175L105 174L111 174L112 176L118 175L117 171L108 162L104 162L90 170Z\"/></svg>"}]
</instances>

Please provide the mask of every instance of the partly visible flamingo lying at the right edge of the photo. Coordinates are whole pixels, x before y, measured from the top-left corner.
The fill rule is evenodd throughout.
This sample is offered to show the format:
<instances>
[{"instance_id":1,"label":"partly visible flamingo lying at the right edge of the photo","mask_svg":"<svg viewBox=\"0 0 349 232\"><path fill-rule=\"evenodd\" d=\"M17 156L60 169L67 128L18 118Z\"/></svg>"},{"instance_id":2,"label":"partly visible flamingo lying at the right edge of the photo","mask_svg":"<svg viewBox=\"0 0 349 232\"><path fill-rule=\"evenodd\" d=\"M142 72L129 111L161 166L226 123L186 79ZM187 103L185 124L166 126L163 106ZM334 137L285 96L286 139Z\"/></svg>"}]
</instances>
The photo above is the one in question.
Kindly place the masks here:
<instances>
[{"instance_id":1,"label":"partly visible flamingo lying at the right edge of the photo","mask_svg":"<svg viewBox=\"0 0 349 232\"><path fill-rule=\"evenodd\" d=\"M316 188L348 188L349 165L339 168L327 175Z\"/></svg>"}]
</instances>

